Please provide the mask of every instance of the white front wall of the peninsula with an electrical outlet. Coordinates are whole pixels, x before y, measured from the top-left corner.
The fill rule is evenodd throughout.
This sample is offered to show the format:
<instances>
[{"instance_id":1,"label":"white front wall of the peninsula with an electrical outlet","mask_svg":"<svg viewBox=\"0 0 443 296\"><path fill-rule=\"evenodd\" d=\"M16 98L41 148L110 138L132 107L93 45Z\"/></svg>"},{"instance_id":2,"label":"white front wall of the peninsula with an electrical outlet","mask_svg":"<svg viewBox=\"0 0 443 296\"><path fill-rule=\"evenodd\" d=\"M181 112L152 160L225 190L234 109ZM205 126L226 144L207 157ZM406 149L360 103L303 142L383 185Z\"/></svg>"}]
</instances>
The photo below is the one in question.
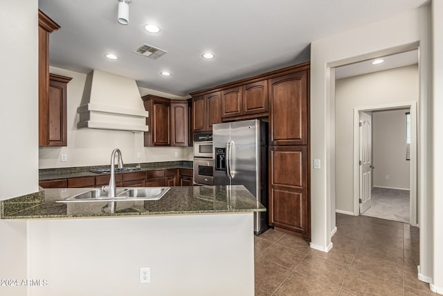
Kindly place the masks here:
<instances>
[{"instance_id":1,"label":"white front wall of the peninsula with an electrical outlet","mask_svg":"<svg viewBox=\"0 0 443 296\"><path fill-rule=\"evenodd\" d=\"M31 221L29 276L48 286L28 295L253 296L252 229L252 213Z\"/></svg>"}]
</instances>

